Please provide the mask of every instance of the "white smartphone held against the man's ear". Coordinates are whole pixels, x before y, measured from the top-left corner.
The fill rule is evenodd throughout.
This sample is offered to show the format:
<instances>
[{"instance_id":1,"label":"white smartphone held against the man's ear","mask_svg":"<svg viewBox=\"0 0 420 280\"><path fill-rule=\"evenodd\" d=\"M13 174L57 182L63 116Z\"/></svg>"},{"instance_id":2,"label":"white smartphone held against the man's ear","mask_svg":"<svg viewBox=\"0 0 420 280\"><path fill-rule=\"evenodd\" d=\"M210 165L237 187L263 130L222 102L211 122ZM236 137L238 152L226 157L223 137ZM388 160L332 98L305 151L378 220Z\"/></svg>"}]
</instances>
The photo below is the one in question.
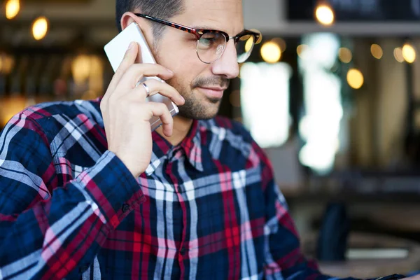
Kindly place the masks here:
<instances>
[{"instance_id":1,"label":"white smartphone held against the man's ear","mask_svg":"<svg viewBox=\"0 0 420 280\"><path fill-rule=\"evenodd\" d=\"M141 50L141 57L137 57L136 59L137 63L156 63L155 58L152 55L151 49L149 48L146 39L144 38L144 35L141 33L139 25L133 22L132 24L127 26L123 31L121 31L120 34L113 38L109 43L107 43L104 47L106 56L108 57L109 62L111 62L111 66L114 72L118 69L121 62L123 61L125 52L127 52L128 46L132 41L139 43L139 47ZM160 79L159 77L144 77L141 80L139 80L139 83L137 83L137 85L139 85L140 83L144 83L144 81L151 78L165 83L165 81ZM168 97L164 97L159 93L153 94L146 100L148 102L164 103L168 107L169 113L171 113L172 116L175 116L177 113L179 113L179 109L176 106L176 104L174 104L174 102L172 102L172 100ZM158 127L160 127L160 125L162 125L162 121L160 120L160 118L151 118L152 131L156 130Z\"/></svg>"}]
</instances>

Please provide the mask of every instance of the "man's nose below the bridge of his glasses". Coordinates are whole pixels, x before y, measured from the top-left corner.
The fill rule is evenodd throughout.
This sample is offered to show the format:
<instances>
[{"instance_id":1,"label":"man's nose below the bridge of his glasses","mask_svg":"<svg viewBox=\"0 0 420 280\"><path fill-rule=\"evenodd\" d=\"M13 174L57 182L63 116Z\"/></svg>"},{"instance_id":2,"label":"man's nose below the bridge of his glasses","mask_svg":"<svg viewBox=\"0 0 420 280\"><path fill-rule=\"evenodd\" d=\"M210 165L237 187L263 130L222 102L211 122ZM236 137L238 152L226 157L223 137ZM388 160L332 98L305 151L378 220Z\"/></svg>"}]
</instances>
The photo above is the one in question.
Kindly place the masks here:
<instances>
[{"instance_id":1,"label":"man's nose below the bridge of his glasses","mask_svg":"<svg viewBox=\"0 0 420 280\"><path fill-rule=\"evenodd\" d=\"M236 78L239 75L237 50L233 40L228 41L223 55L211 64L211 71L214 75L225 76L229 79Z\"/></svg>"}]
</instances>

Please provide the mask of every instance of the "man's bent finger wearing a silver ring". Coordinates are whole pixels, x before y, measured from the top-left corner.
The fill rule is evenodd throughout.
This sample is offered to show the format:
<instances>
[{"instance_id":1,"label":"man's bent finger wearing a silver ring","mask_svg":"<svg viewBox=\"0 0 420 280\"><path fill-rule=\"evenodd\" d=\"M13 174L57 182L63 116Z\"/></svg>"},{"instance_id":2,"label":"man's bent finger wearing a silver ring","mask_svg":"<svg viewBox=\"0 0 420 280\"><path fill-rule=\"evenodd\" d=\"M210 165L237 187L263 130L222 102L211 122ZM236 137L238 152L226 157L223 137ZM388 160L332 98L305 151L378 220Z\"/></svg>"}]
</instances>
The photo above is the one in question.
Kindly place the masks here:
<instances>
[{"instance_id":1,"label":"man's bent finger wearing a silver ring","mask_svg":"<svg viewBox=\"0 0 420 280\"><path fill-rule=\"evenodd\" d=\"M161 83L158 80L155 79L148 79L146 82L146 87L149 89L149 93L146 91L146 87L144 85L139 85L132 92L129 94L135 94L139 99L144 100L146 97L151 97L155 94L161 94L165 97L168 97L172 100L176 105L183 105L185 103L185 99L179 94L177 90L175 90L174 87L168 85L167 83Z\"/></svg>"}]
</instances>

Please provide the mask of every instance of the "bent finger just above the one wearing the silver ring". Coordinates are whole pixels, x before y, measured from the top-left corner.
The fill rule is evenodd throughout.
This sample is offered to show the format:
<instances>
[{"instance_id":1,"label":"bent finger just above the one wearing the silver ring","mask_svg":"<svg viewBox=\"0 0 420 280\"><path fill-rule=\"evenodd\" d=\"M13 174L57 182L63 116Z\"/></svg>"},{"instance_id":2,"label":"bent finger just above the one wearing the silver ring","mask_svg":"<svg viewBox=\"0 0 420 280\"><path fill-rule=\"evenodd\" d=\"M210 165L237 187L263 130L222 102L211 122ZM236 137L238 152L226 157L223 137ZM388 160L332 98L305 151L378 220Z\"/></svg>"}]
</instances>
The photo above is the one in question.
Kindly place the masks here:
<instances>
[{"instance_id":1,"label":"bent finger just above the one wearing the silver ring","mask_svg":"<svg viewBox=\"0 0 420 280\"><path fill-rule=\"evenodd\" d=\"M143 77L158 76L167 80L174 76L174 73L159 64L132 64L124 76L120 79L117 88L119 92L127 92L136 87L137 83Z\"/></svg>"}]
</instances>

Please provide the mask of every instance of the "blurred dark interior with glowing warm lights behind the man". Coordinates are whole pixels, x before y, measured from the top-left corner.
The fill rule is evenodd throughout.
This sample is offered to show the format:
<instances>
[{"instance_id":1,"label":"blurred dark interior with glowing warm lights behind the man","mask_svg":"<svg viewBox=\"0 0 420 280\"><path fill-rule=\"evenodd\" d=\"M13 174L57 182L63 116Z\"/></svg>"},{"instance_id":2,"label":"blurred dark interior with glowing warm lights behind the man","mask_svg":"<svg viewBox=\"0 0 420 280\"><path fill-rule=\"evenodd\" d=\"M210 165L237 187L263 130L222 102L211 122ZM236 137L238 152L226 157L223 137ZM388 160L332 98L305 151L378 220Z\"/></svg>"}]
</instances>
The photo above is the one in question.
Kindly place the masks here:
<instances>
[{"instance_id":1,"label":"blurred dark interior with glowing warm lights behind the man","mask_svg":"<svg viewBox=\"0 0 420 280\"><path fill-rule=\"evenodd\" d=\"M0 130L39 102L94 99L113 76L114 0L7 0ZM220 114L272 160L325 273L420 270L420 0L244 0L263 39Z\"/></svg>"}]
</instances>

